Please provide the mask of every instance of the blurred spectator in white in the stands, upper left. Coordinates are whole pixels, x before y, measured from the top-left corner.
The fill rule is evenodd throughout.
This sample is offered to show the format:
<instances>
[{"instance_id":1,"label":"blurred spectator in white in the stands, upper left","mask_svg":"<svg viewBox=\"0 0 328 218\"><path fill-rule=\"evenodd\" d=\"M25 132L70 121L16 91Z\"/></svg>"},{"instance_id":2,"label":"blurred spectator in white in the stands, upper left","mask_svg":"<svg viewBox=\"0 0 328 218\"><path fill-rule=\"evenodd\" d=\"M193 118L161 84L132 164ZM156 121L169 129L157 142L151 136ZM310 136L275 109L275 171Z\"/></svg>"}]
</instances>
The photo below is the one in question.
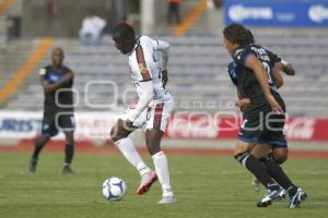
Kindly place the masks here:
<instances>
[{"instance_id":1,"label":"blurred spectator in white in the stands, upper left","mask_svg":"<svg viewBox=\"0 0 328 218\"><path fill-rule=\"evenodd\" d=\"M83 19L82 27L79 33L82 44L98 44L106 24L107 22L104 19L96 16L93 11L90 11L86 17Z\"/></svg>"}]
</instances>

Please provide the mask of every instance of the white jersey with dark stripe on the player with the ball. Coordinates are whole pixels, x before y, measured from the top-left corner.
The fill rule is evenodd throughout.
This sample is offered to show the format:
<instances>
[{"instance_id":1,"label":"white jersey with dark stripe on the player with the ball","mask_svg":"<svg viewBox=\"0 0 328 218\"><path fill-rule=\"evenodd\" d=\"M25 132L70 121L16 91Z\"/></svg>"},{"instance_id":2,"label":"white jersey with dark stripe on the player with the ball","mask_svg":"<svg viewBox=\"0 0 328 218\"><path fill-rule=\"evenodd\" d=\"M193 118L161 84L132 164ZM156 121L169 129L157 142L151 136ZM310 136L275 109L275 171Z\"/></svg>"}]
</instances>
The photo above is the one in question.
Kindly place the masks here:
<instances>
[{"instance_id":1,"label":"white jersey with dark stripe on the player with the ball","mask_svg":"<svg viewBox=\"0 0 328 218\"><path fill-rule=\"evenodd\" d=\"M153 100L165 101L172 99L171 94L164 88L162 82L162 70L166 68L167 56L165 56L166 60L163 60L163 58L160 60L156 55L156 51L163 51L167 55L168 48L169 44L163 40L154 40L148 36L141 36L134 49L128 55L131 80L137 87L139 97L141 93L140 83L152 81Z\"/></svg>"}]
</instances>

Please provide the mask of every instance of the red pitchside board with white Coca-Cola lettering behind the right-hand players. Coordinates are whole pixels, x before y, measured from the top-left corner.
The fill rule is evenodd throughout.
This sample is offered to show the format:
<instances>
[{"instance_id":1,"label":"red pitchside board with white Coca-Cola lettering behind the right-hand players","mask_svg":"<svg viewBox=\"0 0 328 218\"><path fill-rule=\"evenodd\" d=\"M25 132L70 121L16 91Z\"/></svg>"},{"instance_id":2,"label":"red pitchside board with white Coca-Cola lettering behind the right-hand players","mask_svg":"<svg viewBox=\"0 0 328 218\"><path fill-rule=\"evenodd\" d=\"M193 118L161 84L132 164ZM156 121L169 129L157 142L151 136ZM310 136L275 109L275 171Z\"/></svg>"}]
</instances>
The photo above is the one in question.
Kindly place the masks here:
<instances>
[{"instance_id":1,"label":"red pitchside board with white Coca-Cola lettering behind the right-hand players","mask_svg":"<svg viewBox=\"0 0 328 218\"><path fill-rule=\"evenodd\" d=\"M175 114L168 124L166 136L185 140L236 138L239 117L212 117L202 114ZM285 136L292 141L328 141L328 118L291 118L286 120Z\"/></svg>"}]
</instances>

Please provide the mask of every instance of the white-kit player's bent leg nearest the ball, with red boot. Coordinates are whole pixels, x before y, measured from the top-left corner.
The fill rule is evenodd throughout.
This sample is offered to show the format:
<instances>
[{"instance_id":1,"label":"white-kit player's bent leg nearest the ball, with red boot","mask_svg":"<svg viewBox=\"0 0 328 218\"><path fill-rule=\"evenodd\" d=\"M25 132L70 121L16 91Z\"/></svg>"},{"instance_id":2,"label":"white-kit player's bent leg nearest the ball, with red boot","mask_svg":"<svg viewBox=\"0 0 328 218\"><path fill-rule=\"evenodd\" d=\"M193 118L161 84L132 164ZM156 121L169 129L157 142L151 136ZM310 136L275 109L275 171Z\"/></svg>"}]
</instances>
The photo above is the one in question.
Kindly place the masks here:
<instances>
[{"instance_id":1,"label":"white-kit player's bent leg nearest the ball, with red boot","mask_svg":"<svg viewBox=\"0 0 328 218\"><path fill-rule=\"evenodd\" d=\"M133 130L125 121L118 120L110 131L110 136L125 158L139 171L141 182L137 189L137 194L141 195L149 191L150 186L156 181L157 175L144 164L132 140L128 137Z\"/></svg>"}]
</instances>

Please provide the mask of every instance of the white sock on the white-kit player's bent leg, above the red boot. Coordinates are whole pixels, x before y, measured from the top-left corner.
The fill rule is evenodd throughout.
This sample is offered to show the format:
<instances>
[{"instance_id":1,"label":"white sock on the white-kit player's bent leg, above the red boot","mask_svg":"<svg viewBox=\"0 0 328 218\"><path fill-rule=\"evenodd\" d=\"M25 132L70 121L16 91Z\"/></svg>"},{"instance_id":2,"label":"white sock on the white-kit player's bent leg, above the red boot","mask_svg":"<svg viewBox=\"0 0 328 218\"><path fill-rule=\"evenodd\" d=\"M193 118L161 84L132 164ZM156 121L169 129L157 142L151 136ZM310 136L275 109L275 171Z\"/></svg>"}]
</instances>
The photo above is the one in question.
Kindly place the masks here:
<instances>
[{"instance_id":1,"label":"white sock on the white-kit player's bent leg, above the red boot","mask_svg":"<svg viewBox=\"0 0 328 218\"><path fill-rule=\"evenodd\" d=\"M125 158L139 171L140 175L151 172L151 169L141 159L131 138L125 137L115 144Z\"/></svg>"}]
</instances>

